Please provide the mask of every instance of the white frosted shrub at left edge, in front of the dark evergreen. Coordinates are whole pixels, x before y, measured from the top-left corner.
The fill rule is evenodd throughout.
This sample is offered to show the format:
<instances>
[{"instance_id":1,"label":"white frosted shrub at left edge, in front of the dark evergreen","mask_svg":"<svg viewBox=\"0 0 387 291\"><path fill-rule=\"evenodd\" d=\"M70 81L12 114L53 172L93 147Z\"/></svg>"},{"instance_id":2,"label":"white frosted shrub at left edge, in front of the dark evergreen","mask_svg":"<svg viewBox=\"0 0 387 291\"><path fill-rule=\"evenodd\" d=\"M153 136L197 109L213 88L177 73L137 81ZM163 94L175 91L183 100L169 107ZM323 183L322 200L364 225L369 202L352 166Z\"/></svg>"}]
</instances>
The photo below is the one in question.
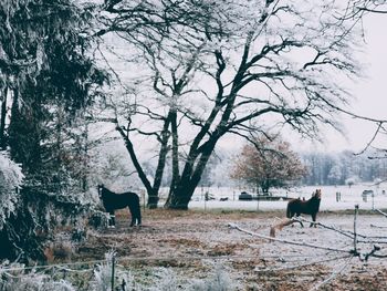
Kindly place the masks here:
<instances>
[{"instance_id":1,"label":"white frosted shrub at left edge, in front of the dark evergreen","mask_svg":"<svg viewBox=\"0 0 387 291\"><path fill-rule=\"evenodd\" d=\"M17 189L23 178L19 165L13 163L6 152L0 152L0 229L15 210L19 196Z\"/></svg>"}]
</instances>

